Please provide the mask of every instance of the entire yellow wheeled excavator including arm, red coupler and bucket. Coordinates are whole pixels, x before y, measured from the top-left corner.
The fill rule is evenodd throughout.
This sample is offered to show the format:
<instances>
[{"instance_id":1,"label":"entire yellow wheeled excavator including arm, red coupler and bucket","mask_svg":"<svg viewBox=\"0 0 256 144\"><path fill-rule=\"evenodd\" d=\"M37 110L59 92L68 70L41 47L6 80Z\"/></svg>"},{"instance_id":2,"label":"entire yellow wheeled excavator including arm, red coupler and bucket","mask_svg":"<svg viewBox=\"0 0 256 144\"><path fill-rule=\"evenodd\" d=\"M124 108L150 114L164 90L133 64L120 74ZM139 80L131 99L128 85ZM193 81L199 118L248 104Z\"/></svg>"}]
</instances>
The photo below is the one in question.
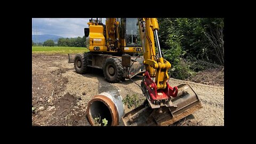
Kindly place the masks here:
<instances>
[{"instance_id":1,"label":"entire yellow wheeled excavator including arm, red coupler and bucket","mask_svg":"<svg viewBox=\"0 0 256 144\"><path fill-rule=\"evenodd\" d=\"M202 108L188 84L169 85L171 63L161 52L156 18L107 18L106 25L91 19L88 24L85 36L90 52L75 56L77 73L101 68L112 83L143 75L139 86L146 100L122 117L124 125L171 125Z\"/></svg>"}]
</instances>

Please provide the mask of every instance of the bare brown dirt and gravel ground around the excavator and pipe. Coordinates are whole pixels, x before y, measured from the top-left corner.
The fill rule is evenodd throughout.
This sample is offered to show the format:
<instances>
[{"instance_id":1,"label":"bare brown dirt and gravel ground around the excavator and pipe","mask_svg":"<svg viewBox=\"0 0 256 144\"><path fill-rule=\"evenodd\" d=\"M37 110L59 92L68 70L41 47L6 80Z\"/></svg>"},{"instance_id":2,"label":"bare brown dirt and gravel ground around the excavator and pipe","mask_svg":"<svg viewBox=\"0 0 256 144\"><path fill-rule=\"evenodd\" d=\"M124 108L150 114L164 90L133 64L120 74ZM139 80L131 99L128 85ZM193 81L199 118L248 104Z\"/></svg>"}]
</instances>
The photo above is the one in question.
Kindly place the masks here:
<instances>
[{"instance_id":1,"label":"bare brown dirt and gravel ground around the excavator and pipe","mask_svg":"<svg viewBox=\"0 0 256 144\"><path fill-rule=\"evenodd\" d=\"M133 81L140 84L142 77ZM224 125L224 87L205 85L170 78L171 86L189 84L197 93L203 108L174 125ZM215 84L213 84L215 85ZM140 87L129 79L110 84L105 81L102 70L92 69L91 73L80 75L74 64L68 63L68 55L32 55L32 125L42 126L89 126L85 112L92 97L110 89L119 90L123 98L137 94L143 98ZM133 107L132 107L133 108ZM125 107L125 113L132 110Z\"/></svg>"}]
</instances>

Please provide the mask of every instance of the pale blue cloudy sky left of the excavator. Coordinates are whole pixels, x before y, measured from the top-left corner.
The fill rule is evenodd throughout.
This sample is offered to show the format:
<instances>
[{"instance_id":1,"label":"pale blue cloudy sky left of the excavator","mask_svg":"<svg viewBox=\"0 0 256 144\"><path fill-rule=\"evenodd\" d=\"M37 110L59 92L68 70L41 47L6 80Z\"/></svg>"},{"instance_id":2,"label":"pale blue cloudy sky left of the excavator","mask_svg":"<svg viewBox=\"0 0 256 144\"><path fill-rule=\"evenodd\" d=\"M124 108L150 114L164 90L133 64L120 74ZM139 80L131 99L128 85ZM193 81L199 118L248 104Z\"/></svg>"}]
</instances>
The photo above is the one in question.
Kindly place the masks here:
<instances>
[{"instance_id":1,"label":"pale blue cloudy sky left of the excavator","mask_svg":"<svg viewBox=\"0 0 256 144\"><path fill-rule=\"evenodd\" d=\"M32 18L32 35L83 37L91 18ZM105 19L102 19L105 23Z\"/></svg>"}]
</instances>

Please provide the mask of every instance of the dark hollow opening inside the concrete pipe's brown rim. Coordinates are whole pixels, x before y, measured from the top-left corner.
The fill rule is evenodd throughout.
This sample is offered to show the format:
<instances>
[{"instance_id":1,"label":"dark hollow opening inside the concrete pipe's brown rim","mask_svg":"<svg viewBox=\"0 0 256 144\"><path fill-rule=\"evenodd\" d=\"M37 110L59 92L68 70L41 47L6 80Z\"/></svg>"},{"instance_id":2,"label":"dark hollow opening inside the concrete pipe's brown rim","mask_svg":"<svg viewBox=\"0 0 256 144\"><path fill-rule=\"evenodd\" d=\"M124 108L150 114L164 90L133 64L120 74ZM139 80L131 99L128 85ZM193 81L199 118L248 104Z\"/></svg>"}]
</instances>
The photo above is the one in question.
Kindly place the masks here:
<instances>
[{"instance_id":1,"label":"dark hollow opening inside the concrete pipe's brown rim","mask_svg":"<svg viewBox=\"0 0 256 144\"><path fill-rule=\"evenodd\" d=\"M104 118L106 118L108 121L107 126L110 126L112 123L112 117L109 108L102 101L93 101L91 103L90 114L93 120L97 117L100 117L100 121L98 121L98 123L101 124L101 126L104 125L102 123L102 119Z\"/></svg>"}]
</instances>

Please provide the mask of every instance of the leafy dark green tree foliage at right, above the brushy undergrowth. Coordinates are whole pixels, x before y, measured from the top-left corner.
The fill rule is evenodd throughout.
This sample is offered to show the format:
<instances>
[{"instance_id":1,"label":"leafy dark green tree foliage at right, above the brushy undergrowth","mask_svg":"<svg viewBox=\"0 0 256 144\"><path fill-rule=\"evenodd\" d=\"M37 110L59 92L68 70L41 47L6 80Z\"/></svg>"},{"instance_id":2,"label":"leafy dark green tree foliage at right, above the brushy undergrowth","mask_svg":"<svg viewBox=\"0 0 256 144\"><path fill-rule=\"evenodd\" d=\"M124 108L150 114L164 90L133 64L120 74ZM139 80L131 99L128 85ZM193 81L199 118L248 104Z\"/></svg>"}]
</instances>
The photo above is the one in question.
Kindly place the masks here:
<instances>
[{"instance_id":1,"label":"leafy dark green tree foliage at right, above the brushy undergrowth","mask_svg":"<svg viewBox=\"0 0 256 144\"><path fill-rule=\"evenodd\" d=\"M170 55L224 63L224 20L220 18L160 18L159 41ZM181 51L180 51L181 50ZM175 53L174 52L179 52ZM177 59L177 58L176 58Z\"/></svg>"}]
</instances>

